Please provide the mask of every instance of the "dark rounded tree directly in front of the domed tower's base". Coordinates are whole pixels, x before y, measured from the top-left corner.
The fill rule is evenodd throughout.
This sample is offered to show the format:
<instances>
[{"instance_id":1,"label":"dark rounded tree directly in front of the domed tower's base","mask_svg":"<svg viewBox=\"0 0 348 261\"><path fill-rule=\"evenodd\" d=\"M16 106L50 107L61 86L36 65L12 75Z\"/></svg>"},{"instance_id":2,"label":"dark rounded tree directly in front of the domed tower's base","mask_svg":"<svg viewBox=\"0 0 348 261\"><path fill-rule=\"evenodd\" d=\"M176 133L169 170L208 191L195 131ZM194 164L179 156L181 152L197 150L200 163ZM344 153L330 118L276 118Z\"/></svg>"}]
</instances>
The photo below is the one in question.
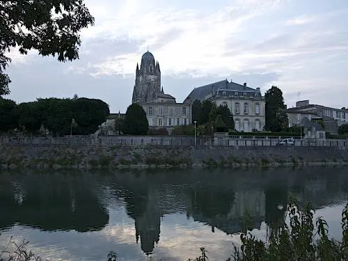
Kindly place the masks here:
<instances>
[{"instance_id":1,"label":"dark rounded tree directly in front of the domed tower's base","mask_svg":"<svg viewBox=\"0 0 348 261\"><path fill-rule=\"evenodd\" d=\"M146 135L148 129L149 122L143 107L136 103L129 105L122 122L122 132L130 135Z\"/></svg>"}]
</instances>

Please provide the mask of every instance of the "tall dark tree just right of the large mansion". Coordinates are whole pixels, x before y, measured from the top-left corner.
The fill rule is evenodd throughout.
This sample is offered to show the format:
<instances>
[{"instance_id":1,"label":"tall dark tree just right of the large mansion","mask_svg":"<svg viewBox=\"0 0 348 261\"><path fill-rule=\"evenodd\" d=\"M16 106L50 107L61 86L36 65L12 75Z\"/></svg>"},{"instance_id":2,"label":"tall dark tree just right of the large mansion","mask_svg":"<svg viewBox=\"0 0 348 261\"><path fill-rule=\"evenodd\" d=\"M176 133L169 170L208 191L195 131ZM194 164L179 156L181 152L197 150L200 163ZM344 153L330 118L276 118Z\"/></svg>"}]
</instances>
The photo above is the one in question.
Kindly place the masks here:
<instances>
[{"instance_id":1,"label":"tall dark tree just right of the large mansion","mask_svg":"<svg viewBox=\"0 0 348 261\"><path fill-rule=\"evenodd\" d=\"M277 86L272 86L264 95L266 102L266 125L265 128L271 132L280 132L287 128L287 114L283 92Z\"/></svg>"}]
</instances>

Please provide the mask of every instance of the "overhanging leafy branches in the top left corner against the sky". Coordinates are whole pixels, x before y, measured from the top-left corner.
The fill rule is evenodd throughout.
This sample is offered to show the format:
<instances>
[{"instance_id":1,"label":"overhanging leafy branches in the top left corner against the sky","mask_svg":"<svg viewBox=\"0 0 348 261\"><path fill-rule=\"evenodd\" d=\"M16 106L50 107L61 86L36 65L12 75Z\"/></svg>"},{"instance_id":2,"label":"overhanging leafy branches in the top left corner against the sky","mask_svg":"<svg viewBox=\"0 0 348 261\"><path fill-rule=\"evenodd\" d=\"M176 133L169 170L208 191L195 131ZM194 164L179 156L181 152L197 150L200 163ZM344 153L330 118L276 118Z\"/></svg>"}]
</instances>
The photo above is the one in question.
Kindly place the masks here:
<instances>
[{"instance_id":1,"label":"overhanging leafy branches in the top left corner against the sky","mask_svg":"<svg viewBox=\"0 0 348 261\"><path fill-rule=\"evenodd\" d=\"M0 1L0 96L10 93L4 71L11 47L19 47L20 54L36 49L42 56L73 61L79 58L81 29L93 24L83 0Z\"/></svg>"}]
</instances>

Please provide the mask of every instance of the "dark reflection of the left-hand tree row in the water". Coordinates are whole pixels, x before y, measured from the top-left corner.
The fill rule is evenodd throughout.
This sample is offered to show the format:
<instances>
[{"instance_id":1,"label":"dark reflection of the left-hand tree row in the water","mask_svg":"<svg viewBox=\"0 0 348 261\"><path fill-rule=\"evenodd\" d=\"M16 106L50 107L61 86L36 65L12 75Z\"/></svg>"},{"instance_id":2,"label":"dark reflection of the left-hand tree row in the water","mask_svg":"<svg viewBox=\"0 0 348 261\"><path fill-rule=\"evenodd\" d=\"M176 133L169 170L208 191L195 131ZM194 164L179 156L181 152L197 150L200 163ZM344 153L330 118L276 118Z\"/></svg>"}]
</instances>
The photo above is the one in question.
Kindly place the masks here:
<instances>
[{"instance_id":1,"label":"dark reflection of the left-hand tree row in the water","mask_svg":"<svg viewBox=\"0 0 348 261\"><path fill-rule=\"evenodd\" d=\"M22 223L42 230L101 230L109 214L84 182L65 175L31 175L17 187L0 180L1 226Z\"/></svg>"}]
</instances>

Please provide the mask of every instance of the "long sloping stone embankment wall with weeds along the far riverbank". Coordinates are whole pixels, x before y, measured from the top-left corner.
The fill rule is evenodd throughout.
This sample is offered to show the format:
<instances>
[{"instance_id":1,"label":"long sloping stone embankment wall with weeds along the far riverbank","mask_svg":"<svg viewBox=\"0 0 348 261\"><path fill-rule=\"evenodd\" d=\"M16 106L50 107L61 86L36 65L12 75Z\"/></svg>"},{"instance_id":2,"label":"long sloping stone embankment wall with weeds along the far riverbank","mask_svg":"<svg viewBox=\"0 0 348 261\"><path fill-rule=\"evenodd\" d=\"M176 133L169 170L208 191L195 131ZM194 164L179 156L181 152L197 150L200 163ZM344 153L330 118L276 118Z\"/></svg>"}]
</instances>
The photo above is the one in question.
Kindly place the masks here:
<instances>
[{"instance_id":1,"label":"long sloping stone embankment wall with weeds along the far riverbank","mask_svg":"<svg viewBox=\"0 0 348 261\"><path fill-rule=\"evenodd\" d=\"M1 168L348 165L348 149L296 146L0 145Z\"/></svg>"}]
</instances>

